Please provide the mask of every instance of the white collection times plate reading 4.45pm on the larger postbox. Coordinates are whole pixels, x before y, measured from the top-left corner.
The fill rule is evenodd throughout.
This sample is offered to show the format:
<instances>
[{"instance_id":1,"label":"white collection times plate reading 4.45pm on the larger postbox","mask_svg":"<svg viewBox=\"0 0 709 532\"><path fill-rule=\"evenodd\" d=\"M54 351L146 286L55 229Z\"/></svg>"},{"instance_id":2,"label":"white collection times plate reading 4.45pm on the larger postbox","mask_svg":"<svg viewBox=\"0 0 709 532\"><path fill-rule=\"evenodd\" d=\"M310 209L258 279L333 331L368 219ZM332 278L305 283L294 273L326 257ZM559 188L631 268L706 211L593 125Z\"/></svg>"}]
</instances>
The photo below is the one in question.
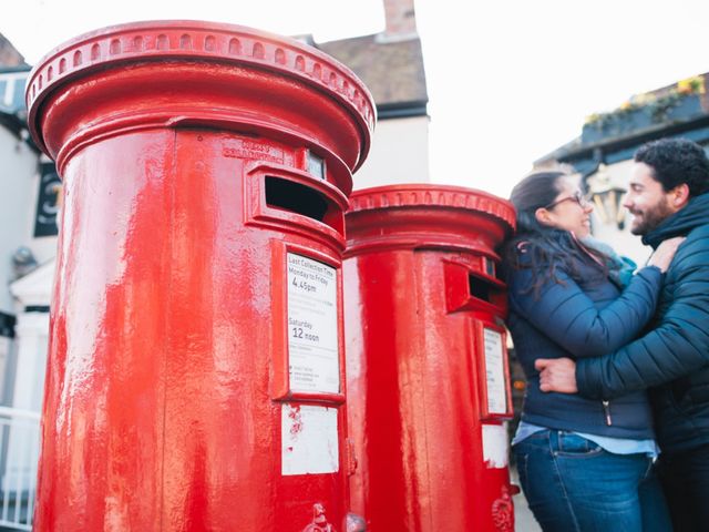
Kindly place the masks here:
<instances>
[{"instance_id":1,"label":"white collection times plate reading 4.45pm on the larger postbox","mask_svg":"<svg viewBox=\"0 0 709 532\"><path fill-rule=\"evenodd\" d=\"M337 270L287 254L290 391L339 393Z\"/></svg>"}]
</instances>

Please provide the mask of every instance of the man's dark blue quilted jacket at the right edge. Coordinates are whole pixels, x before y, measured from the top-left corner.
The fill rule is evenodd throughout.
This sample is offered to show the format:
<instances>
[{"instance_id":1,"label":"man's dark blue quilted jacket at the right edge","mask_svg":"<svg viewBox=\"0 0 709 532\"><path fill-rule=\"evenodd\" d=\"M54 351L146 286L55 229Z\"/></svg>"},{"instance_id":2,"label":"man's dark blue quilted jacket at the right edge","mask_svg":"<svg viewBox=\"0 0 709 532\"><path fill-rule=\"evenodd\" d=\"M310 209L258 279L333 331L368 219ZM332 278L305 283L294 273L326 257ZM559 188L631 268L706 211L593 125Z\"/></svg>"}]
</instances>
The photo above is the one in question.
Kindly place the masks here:
<instances>
[{"instance_id":1,"label":"man's dark blue quilted jacket at the right edge","mask_svg":"<svg viewBox=\"0 0 709 532\"><path fill-rule=\"evenodd\" d=\"M687 236L665 275L648 332L576 366L579 392L613 398L650 388L658 442L681 452L709 443L709 194L693 198L644 242Z\"/></svg>"}]
</instances>

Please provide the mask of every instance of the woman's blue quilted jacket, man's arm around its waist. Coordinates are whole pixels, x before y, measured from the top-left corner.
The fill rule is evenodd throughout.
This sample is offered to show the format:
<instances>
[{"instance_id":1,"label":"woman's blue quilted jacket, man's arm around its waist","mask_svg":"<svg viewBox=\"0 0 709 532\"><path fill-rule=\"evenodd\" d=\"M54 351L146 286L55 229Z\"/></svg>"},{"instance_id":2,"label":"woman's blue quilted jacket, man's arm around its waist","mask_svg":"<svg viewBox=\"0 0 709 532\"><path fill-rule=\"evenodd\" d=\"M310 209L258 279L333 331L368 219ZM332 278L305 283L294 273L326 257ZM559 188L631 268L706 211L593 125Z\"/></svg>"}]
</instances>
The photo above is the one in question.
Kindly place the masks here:
<instances>
[{"instance_id":1,"label":"woman's blue quilted jacket, man's arm around its waist","mask_svg":"<svg viewBox=\"0 0 709 532\"><path fill-rule=\"evenodd\" d=\"M549 246L568 246L568 233L556 232ZM524 241L516 247L528 266ZM568 260L566 262L568 263ZM593 359L631 341L651 318L662 274L643 268L621 293L590 256L555 263L555 279L546 279L538 293L531 289L532 269L508 269L507 326L515 352L527 378L522 419L562 430L616 438L654 438L650 406L645 391L602 401L579 395L540 390L537 358ZM547 268L551 265L543 265Z\"/></svg>"}]
</instances>

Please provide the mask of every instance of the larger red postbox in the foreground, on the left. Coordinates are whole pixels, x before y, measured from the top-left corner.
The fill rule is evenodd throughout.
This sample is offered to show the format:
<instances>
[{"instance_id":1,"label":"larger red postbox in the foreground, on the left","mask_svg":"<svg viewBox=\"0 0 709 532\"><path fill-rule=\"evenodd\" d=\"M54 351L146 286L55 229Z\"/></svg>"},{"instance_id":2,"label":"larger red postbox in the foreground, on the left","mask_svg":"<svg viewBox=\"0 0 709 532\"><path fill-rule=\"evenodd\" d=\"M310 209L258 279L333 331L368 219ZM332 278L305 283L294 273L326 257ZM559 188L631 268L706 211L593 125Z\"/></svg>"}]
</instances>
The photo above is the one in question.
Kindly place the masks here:
<instances>
[{"instance_id":1,"label":"larger red postbox in the foreground, on the left","mask_svg":"<svg viewBox=\"0 0 709 532\"><path fill-rule=\"evenodd\" d=\"M165 21L61 45L27 98L64 182L37 530L342 530L367 89L298 41Z\"/></svg>"}]
</instances>

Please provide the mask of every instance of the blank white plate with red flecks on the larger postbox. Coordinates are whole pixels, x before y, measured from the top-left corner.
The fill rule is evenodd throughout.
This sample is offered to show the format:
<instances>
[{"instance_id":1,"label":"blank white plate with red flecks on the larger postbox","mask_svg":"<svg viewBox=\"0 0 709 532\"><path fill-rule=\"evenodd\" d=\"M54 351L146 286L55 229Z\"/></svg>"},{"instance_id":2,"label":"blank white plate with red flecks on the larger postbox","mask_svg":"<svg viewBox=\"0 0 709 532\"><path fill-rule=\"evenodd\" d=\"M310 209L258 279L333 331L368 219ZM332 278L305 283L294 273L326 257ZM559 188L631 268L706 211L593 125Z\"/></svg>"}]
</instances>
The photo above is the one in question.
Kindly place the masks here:
<instances>
[{"instance_id":1,"label":"blank white plate with red flecks on the larger postbox","mask_svg":"<svg viewBox=\"0 0 709 532\"><path fill-rule=\"evenodd\" d=\"M285 402L281 407L281 474L339 470L337 408Z\"/></svg>"}]
</instances>

